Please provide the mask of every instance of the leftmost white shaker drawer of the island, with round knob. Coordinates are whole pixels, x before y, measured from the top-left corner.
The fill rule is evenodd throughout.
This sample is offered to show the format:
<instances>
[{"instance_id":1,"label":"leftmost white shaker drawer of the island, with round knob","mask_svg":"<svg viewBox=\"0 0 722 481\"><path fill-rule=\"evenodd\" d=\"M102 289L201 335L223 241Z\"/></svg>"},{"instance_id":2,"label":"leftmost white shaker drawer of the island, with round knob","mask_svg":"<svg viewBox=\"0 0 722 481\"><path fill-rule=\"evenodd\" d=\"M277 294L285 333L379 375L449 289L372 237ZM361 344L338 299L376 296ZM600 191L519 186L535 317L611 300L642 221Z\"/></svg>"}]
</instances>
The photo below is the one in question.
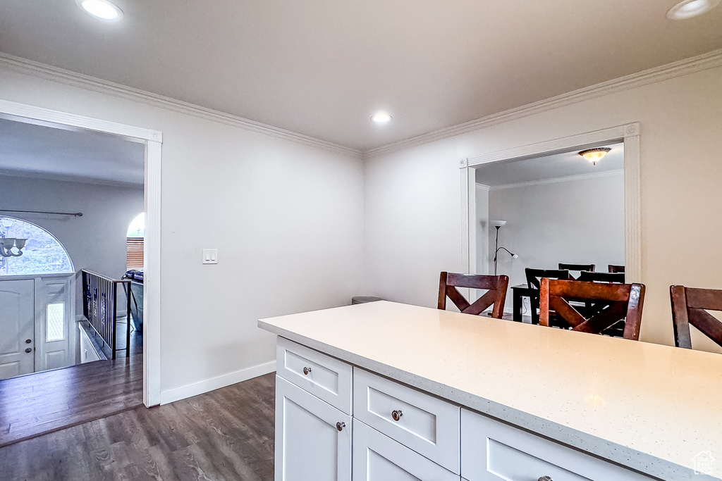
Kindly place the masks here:
<instances>
[{"instance_id":1,"label":"leftmost white shaker drawer of the island, with round knob","mask_svg":"<svg viewBox=\"0 0 722 481\"><path fill-rule=\"evenodd\" d=\"M278 337L276 372L330 405L351 414L351 365Z\"/></svg>"}]
</instances>

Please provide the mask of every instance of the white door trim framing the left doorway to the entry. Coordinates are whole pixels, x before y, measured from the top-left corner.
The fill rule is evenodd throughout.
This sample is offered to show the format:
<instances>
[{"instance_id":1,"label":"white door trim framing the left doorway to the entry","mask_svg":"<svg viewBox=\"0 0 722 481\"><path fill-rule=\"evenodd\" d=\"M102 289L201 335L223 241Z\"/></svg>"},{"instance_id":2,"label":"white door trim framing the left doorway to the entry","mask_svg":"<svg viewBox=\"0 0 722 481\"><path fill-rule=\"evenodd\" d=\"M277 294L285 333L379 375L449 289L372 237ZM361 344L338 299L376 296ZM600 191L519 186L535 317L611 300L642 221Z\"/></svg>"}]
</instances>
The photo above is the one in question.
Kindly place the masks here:
<instances>
[{"instance_id":1,"label":"white door trim framing the left doorway to the entry","mask_svg":"<svg viewBox=\"0 0 722 481\"><path fill-rule=\"evenodd\" d=\"M161 146L162 133L34 105L0 99L0 116L25 118L56 128L85 128L123 136L146 146L143 296L143 402L147 407L160 404L160 226L161 226Z\"/></svg>"}]
</instances>

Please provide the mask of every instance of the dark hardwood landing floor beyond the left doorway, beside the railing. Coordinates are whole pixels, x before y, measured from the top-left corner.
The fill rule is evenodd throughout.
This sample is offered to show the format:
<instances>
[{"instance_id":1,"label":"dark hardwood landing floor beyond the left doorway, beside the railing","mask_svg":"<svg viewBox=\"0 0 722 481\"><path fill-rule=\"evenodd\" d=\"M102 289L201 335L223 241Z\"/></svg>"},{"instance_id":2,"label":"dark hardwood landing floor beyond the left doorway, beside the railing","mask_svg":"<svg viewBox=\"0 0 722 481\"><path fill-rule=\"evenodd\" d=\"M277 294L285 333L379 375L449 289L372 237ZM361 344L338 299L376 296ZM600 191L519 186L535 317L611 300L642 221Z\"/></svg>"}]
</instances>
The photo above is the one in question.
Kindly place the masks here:
<instances>
[{"instance_id":1,"label":"dark hardwood landing floor beyond the left doorway, beside the railing","mask_svg":"<svg viewBox=\"0 0 722 481\"><path fill-rule=\"evenodd\" d=\"M142 406L142 345L134 332L127 358L1 380L0 447Z\"/></svg>"}]
</instances>

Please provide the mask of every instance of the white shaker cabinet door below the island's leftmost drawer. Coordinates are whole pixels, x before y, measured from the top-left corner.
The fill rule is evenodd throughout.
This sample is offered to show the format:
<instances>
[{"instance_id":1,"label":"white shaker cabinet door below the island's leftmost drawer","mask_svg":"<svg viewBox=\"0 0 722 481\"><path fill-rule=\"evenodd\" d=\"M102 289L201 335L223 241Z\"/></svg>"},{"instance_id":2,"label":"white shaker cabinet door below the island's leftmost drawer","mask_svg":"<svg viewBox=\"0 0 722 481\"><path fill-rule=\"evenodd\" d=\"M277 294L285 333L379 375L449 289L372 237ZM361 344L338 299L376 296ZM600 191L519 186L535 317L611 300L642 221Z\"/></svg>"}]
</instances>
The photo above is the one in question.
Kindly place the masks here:
<instances>
[{"instance_id":1,"label":"white shaker cabinet door below the island's leftmost drawer","mask_svg":"<svg viewBox=\"0 0 722 481\"><path fill-rule=\"evenodd\" d=\"M280 376L275 467L276 481L351 480L351 417Z\"/></svg>"}]
</instances>

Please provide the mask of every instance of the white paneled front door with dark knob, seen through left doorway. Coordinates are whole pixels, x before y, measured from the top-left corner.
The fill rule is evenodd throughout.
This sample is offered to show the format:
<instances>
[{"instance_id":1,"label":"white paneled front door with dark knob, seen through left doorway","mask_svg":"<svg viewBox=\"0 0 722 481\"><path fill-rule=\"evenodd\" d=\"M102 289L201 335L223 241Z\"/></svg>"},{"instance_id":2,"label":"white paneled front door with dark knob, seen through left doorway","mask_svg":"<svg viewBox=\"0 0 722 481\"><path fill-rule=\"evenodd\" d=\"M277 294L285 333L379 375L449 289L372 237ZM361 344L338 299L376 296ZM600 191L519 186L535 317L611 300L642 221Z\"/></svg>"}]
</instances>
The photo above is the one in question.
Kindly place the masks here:
<instances>
[{"instance_id":1,"label":"white paneled front door with dark knob, seen through left doorway","mask_svg":"<svg viewBox=\"0 0 722 481\"><path fill-rule=\"evenodd\" d=\"M35 368L35 281L0 281L0 379Z\"/></svg>"}]
</instances>

